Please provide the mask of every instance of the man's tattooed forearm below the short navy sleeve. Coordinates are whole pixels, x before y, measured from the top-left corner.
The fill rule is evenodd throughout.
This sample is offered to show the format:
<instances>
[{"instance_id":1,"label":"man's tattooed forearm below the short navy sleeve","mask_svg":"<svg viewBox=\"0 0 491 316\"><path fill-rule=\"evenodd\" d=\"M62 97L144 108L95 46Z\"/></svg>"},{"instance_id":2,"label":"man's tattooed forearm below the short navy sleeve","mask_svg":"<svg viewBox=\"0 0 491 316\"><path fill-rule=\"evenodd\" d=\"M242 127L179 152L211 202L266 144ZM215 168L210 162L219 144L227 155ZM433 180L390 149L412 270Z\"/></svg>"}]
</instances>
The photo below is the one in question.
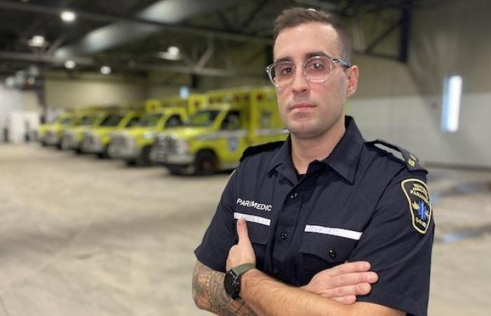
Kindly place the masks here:
<instances>
[{"instance_id":1,"label":"man's tattooed forearm below the short navy sleeve","mask_svg":"<svg viewBox=\"0 0 491 316\"><path fill-rule=\"evenodd\" d=\"M217 315L255 315L241 300L232 300L225 293L225 274L198 262L193 272L193 298L196 305Z\"/></svg>"}]
</instances>

